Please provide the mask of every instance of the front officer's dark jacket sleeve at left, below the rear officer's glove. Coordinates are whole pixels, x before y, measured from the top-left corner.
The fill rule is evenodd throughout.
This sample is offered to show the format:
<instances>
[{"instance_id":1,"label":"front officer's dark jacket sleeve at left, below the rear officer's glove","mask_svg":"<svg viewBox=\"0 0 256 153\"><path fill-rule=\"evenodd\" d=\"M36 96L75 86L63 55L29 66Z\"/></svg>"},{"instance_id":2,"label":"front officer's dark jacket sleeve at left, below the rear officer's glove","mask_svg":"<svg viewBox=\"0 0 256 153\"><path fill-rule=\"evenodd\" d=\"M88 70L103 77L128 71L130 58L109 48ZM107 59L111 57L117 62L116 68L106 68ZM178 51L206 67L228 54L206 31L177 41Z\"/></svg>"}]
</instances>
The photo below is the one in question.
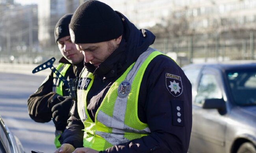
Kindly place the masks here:
<instances>
[{"instance_id":1,"label":"front officer's dark jacket sleeve at left, below the rear officer's glove","mask_svg":"<svg viewBox=\"0 0 256 153\"><path fill-rule=\"evenodd\" d=\"M78 115L77 102L74 101L70 109L68 126L59 137L61 144L71 144L74 148L83 147L83 122Z\"/></svg>"}]
</instances>

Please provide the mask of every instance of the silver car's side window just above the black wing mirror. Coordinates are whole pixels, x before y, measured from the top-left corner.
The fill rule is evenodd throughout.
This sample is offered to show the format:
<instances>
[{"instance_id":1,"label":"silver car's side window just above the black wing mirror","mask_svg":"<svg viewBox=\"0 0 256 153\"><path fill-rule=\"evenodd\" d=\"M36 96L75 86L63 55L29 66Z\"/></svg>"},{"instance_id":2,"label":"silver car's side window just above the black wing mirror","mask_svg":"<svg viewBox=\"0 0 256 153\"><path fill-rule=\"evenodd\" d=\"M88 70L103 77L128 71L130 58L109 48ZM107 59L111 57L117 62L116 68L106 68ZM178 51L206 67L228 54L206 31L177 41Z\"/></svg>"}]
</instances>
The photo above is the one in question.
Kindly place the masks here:
<instances>
[{"instance_id":1,"label":"silver car's side window just above the black wing mirror","mask_svg":"<svg viewBox=\"0 0 256 153\"><path fill-rule=\"evenodd\" d=\"M215 75L204 74L197 88L195 103L202 104L202 100L210 98L222 98L222 93Z\"/></svg>"}]
</instances>

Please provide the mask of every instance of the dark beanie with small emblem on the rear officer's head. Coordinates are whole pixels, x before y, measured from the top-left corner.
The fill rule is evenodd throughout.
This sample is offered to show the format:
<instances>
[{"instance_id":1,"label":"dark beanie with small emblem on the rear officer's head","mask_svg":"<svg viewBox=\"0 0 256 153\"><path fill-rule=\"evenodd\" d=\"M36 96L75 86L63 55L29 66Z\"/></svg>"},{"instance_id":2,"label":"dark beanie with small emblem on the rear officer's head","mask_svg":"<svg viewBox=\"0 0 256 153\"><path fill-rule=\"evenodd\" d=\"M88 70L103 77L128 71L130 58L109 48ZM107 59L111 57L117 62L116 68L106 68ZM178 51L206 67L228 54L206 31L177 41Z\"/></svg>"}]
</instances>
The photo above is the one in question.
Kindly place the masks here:
<instances>
[{"instance_id":1,"label":"dark beanie with small emblem on the rear officer's head","mask_svg":"<svg viewBox=\"0 0 256 153\"><path fill-rule=\"evenodd\" d=\"M55 26L55 30L54 30L54 36L55 36L56 43L60 38L70 35L69 34L69 23L70 23L72 15L73 14L64 15L57 22L57 24Z\"/></svg>"}]
</instances>

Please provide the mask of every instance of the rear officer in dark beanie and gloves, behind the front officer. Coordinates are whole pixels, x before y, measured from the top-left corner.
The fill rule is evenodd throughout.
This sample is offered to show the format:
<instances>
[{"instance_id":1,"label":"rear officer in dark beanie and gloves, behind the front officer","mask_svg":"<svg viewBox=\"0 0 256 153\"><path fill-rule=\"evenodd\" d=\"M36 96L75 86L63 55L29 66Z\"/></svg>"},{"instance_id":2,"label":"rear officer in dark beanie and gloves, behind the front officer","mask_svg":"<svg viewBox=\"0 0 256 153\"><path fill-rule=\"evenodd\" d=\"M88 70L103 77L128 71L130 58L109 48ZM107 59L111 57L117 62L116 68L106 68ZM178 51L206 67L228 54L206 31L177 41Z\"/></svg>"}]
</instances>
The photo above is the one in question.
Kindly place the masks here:
<instances>
[{"instance_id":1,"label":"rear officer in dark beanie and gloves, behind the front officer","mask_svg":"<svg viewBox=\"0 0 256 153\"><path fill-rule=\"evenodd\" d=\"M63 55L56 69L67 80L76 78L83 68L83 54L76 49L70 39L71 17L72 14L62 16L54 31L56 43ZM69 97L67 87L54 73L51 73L37 91L28 98L28 113L35 122L53 120L56 127L54 141L56 148L61 146L58 138L67 126L71 105L72 99Z\"/></svg>"}]
</instances>

